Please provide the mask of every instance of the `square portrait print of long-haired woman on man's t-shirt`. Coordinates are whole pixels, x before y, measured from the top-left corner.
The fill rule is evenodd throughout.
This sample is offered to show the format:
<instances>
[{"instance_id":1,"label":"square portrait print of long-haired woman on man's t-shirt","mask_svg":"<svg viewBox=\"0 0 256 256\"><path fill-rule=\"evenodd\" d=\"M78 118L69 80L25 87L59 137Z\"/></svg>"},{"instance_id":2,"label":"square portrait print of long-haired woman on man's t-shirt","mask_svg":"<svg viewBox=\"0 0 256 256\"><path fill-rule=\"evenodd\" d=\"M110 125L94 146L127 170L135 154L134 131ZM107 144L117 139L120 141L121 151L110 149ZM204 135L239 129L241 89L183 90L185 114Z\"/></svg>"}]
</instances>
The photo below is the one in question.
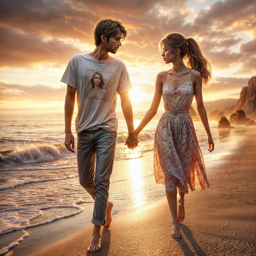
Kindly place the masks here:
<instances>
[{"instance_id":1,"label":"square portrait print of long-haired woman on man's t-shirt","mask_svg":"<svg viewBox=\"0 0 256 256\"><path fill-rule=\"evenodd\" d=\"M108 101L111 81L111 72L85 70L84 97L87 99Z\"/></svg>"}]
</instances>

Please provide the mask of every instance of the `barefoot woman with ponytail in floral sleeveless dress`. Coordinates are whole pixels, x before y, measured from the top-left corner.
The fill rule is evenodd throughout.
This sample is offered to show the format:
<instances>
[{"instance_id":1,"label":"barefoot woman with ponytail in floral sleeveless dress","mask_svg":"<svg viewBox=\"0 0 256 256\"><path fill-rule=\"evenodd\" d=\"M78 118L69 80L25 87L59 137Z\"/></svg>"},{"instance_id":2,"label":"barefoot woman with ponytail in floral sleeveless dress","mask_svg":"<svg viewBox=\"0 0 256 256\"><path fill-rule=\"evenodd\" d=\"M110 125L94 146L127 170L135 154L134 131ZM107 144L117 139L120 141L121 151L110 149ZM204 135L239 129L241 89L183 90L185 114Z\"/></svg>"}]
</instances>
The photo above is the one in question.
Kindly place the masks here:
<instances>
[{"instance_id":1,"label":"barefoot woman with ponytail in floral sleeveless dress","mask_svg":"<svg viewBox=\"0 0 256 256\"><path fill-rule=\"evenodd\" d=\"M193 38L171 33L159 43L168 71L160 72L155 83L152 104L135 130L136 135L155 116L163 96L165 112L159 120L154 141L154 172L157 183L165 184L166 196L173 219L173 238L181 238L180 225L185 218L184 195L188 188L209 187L195 129L189 110L193 97L208 136L208 151L214 149L207 114L202 100L202 83L211 80L211 64ZM188 59L187 66L184 58ZM177 189L179 206L177 211Z\"/></svg>"}]
</instances>

